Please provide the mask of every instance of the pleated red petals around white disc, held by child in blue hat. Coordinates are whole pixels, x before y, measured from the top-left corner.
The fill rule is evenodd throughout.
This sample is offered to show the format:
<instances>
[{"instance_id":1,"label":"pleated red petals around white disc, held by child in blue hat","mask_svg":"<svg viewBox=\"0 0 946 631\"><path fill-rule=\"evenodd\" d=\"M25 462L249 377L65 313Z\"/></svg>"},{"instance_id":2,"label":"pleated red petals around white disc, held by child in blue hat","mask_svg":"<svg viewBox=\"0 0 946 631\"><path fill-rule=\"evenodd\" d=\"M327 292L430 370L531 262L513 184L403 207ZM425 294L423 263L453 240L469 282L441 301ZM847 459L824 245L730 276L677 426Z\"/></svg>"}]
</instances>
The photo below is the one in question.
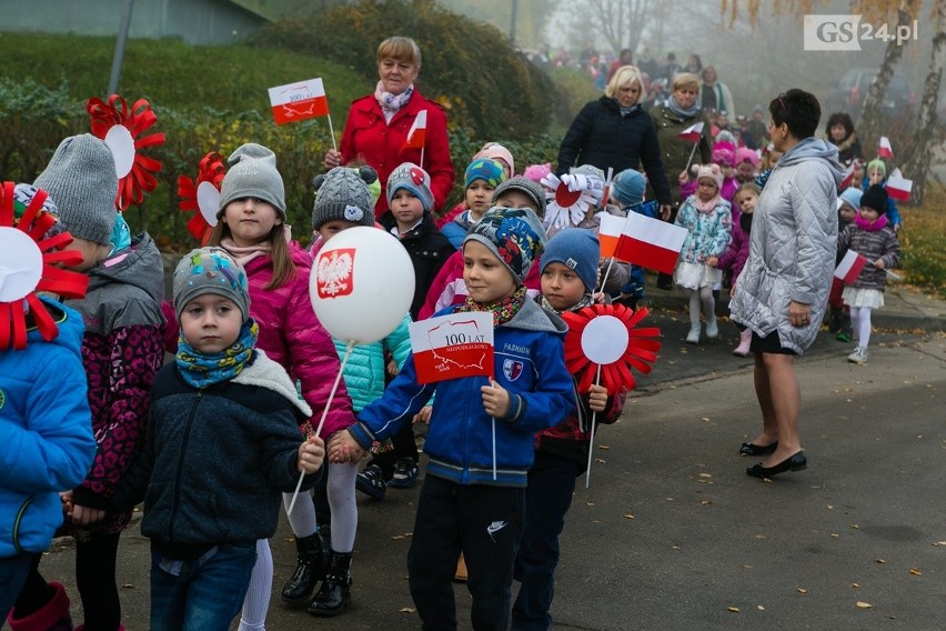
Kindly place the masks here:
<instances>
[{"instance_id":1,"label":"pleated red petals around white disc, held by child in blue hat","mask_svg":"<svg viewBox=\"0 0 946 631\"><path fill-rule=\"evenodd\" d=\"M568 372L578 380L578 391L587 392L595 381L595 374L601 367L601 384L607 388L610 393L617 392L621 388L633 390L637 387L634 375L630 369L635 369L644 374L650 374L652 365L657 361L657 351L661 342L648 338L657 338L661 330L656 327L636 329L635 327L648 314L646 308L636 312L623 304L593 304L578 311L566 311L562 318L568 324L568 333L565 335L565 364ZM585 329L601 317L616 318L627 331L627 344L623 353L611 363L595 363L586 354L582 345L582 335ZM623 341L623 340L621 340ZM615 354L621 349L615 350Z\"/></svg>"}]
</instances>

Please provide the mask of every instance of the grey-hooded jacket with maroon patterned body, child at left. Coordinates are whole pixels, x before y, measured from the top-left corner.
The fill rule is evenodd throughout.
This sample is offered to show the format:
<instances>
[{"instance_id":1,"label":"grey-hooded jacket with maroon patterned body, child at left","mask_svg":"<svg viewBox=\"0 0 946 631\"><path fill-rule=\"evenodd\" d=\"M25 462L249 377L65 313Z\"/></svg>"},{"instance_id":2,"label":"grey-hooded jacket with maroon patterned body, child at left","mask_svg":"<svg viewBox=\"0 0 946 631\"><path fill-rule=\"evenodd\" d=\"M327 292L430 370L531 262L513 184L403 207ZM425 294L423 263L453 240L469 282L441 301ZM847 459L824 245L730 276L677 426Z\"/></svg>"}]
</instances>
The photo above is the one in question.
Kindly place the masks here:
<instances>
[{"instance_id":1,"label":"grey-hooded jacket with maroon patterned body, child at left","mask_svg":"<svg viewBox=\"0 0 946 631\"><path fill-rule=\"evenodd\" d=\"M85 297L66 304L85 324L82 363L99 451L72 502L104 509L144 442L151 382L164 363L164 267L154 241L141 233L88 274ZM115 513L89 527L68 524L63 533L120 532L130 521L130 511Z\"/></svg>"}]
</instances>

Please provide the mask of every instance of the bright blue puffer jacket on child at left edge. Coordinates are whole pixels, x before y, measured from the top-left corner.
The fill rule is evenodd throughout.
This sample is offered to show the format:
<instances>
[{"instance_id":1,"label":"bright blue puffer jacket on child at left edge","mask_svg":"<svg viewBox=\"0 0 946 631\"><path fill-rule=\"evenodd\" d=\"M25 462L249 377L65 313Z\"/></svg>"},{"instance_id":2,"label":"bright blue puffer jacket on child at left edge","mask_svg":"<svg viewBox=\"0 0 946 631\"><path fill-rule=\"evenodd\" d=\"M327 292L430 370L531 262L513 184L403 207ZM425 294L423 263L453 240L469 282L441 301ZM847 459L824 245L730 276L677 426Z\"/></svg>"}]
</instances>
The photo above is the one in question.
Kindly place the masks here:
<instances>
[{"instance_id":1,"label":"bright blue puffer jacket on child at left edge","mask_svg":"<svg viewBox=\"0 0 946 631\"><path fill-rule=\"evenodd\" d=\"M41 299L59 328L34 327L24 350L0 351L0 559L49 548L62 523L59 491L79 484L95 458L82 368L82 318Z\"/></svg>"}]
</instances>

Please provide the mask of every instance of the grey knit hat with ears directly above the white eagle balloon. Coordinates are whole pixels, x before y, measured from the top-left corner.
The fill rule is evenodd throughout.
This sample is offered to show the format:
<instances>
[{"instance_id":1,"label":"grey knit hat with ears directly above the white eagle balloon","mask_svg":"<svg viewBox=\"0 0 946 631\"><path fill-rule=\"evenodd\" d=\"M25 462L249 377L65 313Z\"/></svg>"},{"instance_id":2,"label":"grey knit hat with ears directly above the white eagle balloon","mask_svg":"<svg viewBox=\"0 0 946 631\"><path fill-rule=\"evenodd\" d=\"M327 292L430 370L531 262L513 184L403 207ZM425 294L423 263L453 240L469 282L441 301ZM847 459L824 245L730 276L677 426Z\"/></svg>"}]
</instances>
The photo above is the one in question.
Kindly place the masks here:
<instances>
[{"instance_id":1,"label":"grey knit hat with ears directly above the white eagle balloon","mask_svg":"<svg viewBox=\"0 0 946 631\"><path fill-rule=\"evenodd\" d=\"M315 187L315 206L312 209L312 229L323 223L343 219L360 226L374 226L374 202L369 184L378 181L378 171L371 167L335 167L312 180Z\"/></svg>"}]
</instances>

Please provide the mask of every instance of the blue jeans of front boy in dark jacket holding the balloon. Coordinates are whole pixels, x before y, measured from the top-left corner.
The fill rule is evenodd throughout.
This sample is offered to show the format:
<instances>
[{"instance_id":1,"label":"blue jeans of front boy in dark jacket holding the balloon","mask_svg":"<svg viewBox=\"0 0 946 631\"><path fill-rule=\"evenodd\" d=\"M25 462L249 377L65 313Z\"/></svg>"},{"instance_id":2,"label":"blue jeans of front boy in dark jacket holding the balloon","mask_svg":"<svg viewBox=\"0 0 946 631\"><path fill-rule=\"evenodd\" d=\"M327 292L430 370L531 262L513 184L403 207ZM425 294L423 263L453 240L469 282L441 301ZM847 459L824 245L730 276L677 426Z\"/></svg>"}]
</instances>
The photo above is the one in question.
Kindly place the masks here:
<instances>
[{"instance_id":1,"label":"blue jeans of front boy in dark jacket holding the balloon","mask_svg":"<svg viewBox=\"0 0 946 631\"><path fill-rule=\"evenodd\" d=\"M185 561L180 575L160 567L151 552L151 631L227 631L240 612L256 562L256 542L222 544L198 564Z\"/></svg>"}]
</instances>

